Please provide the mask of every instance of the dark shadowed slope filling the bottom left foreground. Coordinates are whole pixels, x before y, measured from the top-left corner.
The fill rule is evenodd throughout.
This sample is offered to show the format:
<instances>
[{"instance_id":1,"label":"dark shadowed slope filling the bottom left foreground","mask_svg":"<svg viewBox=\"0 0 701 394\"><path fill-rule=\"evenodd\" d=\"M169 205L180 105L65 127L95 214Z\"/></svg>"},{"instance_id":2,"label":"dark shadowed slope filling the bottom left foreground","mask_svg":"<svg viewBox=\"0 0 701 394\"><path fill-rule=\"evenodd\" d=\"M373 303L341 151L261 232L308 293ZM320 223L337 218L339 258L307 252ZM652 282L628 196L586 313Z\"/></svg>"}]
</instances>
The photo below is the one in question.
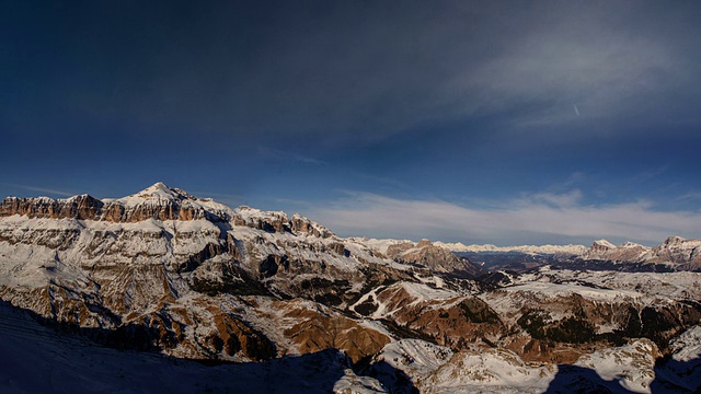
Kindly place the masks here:
<instances>
[{"instance_id":1,"label":"dark shadowed slope filling the bottom left foreground","mask_svg":"<svg viewBox=\"0 0 701 394\"><path fill-rule=\"evenodd\" d=\"M348 357L335 349L267 362L208 366L154 352L94 346L84 337L41 326L36 317L0 302L2 393L384 392L377 380L356 375ZM94 338L114 335L101 328L84 334Z\"/></svg>"}]
</instances>

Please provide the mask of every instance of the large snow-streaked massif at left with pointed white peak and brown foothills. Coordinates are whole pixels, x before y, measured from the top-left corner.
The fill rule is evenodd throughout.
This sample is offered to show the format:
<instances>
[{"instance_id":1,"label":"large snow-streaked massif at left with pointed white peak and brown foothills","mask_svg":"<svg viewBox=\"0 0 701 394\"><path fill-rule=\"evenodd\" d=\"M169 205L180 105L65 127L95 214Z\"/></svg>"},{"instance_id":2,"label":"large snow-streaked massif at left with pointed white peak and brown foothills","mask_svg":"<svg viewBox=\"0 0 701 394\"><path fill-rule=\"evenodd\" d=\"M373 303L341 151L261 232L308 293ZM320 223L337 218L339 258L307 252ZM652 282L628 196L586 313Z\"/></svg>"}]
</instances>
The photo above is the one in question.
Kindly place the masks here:
<instances>
[{"instance_id":1,"label":"large snow-streaked massif at left with pointed white peak and brown foothills","mask_svg":"<svg viewBox=\"0 0 701 394\"><path fill-rule=\"evenodd\" d=\"M0 218L2 299L177 357L258 360L330 347L366 357L390 336L344 309L422 271L302 216L230 209L162 183L118 199L10 197Z\"/></svg>"}]
</instances>

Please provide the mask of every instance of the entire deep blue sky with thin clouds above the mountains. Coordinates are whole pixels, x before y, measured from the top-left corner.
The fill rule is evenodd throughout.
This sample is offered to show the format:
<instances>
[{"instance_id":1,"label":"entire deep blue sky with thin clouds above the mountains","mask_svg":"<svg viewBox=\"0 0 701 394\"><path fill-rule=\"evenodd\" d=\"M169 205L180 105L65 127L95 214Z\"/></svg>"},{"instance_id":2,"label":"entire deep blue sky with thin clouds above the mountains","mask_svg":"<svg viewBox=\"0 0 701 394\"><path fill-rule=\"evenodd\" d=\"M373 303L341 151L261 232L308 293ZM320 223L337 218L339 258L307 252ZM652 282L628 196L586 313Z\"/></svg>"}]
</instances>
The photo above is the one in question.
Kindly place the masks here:
<instances>
[{"instance_id":1,"label":"entire deep blue sky with thin clouds above the mountains","mask_svg":"<svg viewBox=\"0 0 701 394\"><path fill-rule=\"evenodd\" d=\"M0 194L342 236L701 237L701 2L0 1Z\"/></svg>"}]
</instances>

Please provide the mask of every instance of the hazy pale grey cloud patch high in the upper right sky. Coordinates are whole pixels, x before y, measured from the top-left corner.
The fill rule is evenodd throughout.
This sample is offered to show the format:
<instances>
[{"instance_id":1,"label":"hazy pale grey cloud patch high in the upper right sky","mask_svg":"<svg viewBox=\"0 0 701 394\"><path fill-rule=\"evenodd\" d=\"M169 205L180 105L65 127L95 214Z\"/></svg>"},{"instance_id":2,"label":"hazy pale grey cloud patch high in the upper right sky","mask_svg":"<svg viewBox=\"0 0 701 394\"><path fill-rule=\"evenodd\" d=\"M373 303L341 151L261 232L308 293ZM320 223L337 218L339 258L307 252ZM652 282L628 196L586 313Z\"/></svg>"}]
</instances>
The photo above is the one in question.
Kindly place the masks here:
<instances>
[{"instance_id":1,"label":"hazy pale grey cloud patch high in the upper right sky","mask_svg":"<svg viewBox=\"0 0 701 394\"><path fill-rule=\"evenodd\" d=\"M472 61L445 91L462 92L462 107L473 112L524 108L506 121L516 126L562 126L577 117L650 120L651 112L679 109L668 97L689 93L681 81L697 80L694 61L679 44L683 37L670 30L651 33L658 30L646 27L655 22L650 13L624 21L588 8L559 8L558 21L545 14L521 22L510 43ZM620 18L622 11L611 14ZM671 120L656 116L655 121Z\"/></svg>"}]
</instances>

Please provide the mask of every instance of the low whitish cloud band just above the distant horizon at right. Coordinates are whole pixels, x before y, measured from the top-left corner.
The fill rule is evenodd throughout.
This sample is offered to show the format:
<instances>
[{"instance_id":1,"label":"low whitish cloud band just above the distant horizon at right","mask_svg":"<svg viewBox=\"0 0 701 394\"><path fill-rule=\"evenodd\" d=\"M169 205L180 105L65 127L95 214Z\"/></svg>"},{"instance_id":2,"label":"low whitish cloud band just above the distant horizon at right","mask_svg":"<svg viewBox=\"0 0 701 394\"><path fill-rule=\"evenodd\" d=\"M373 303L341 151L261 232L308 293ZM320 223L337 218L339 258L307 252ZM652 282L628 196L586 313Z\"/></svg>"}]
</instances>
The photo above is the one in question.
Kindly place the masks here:
<instances>
[{"instance_id":1,"label":"low whitish cloud band just above the distant horizon at right","mask_svg":"<svg viewBox=\"0 0 701 394\"><path fill-rule=\"evenodd\" d=\"M658 211L647 201L586 206L582 193L538 194L498 207L469 208L440 200L398 199L349 193L332 206L308 215L342 235L368 235L491 242L502 245L560 242L589 243L608 237L654 245L670 235L692 237L701 213Z\"/></svg>"}]
</instances>

